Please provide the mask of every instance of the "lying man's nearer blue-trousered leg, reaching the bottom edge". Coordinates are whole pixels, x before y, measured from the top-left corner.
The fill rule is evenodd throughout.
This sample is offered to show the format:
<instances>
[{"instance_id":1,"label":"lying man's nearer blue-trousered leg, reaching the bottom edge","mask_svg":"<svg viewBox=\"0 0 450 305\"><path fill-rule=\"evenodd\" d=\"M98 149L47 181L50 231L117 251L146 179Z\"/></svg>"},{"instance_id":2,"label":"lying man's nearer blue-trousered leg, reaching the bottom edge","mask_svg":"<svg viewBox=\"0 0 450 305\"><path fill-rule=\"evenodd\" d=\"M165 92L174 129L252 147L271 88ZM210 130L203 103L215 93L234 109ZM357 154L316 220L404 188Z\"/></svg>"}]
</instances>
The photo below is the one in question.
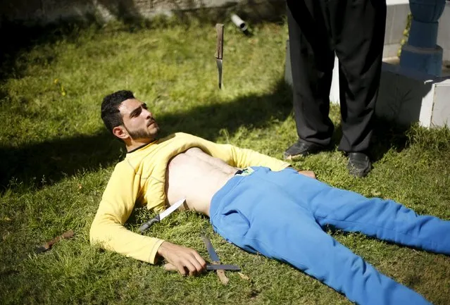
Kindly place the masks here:
<instances>
[{"instance_id":1,"label":"lying man's nearer blue-trousered leg, reaching the bottom edge","mask_svg":"<svg viewBox=\"0 0 450 305\"><path fill-rule=\"evenodd\" d=\"M211 202L215 231L246 251L299 268L357 304L429 304L327 235L273 178L256 170L220 189Z\"/></svg>"}]
</instances>

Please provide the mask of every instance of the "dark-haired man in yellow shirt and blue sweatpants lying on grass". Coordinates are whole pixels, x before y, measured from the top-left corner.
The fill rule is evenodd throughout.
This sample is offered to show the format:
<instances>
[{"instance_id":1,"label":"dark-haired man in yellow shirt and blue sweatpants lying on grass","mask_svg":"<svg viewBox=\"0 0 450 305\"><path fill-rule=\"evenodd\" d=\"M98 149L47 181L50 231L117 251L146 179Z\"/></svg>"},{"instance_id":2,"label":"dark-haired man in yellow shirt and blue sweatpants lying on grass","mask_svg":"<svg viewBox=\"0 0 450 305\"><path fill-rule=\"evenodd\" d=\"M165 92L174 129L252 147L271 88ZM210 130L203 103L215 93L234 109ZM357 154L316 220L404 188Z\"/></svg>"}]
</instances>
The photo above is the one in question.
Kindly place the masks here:
<instances>
[{"instance_id":1,"label":"dark-haired man in yellow shirt and blue sweatpants lying on grass","mask_svg":"<svg viewBox=\"0 0 450 305\"><path fill-rule=\"evenodd\" d=\"M429 304L322 228L332 225L450 254L450 221L418 216L392 200L331 187L312 172L298 172L289 163L250 149L185 133L158 139L152 113L130 91L106 96L101 118L125 142L127 156L106 186L90 230L92 243L149 263L161 257L182 274L201 273L206 262L194 249L123 226L135 205L163 211L185 197L187 208L209 216L215 232L227 241L289 263L351 301Z\"/></svg>"}]
</instances>

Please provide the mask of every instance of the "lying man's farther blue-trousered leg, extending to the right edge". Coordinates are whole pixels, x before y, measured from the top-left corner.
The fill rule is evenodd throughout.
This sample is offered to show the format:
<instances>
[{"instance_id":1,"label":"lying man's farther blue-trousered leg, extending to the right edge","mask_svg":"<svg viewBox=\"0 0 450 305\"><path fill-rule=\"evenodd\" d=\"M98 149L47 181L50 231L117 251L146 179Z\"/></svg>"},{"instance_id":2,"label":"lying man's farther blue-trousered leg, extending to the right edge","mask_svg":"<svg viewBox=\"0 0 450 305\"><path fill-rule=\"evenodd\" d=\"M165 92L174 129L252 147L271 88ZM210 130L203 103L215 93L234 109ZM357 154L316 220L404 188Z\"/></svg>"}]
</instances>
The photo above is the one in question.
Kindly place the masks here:
<instances>
[{"instance_id":1,"label":"lying man's farther blue-trousered leg, extending to the right edge","mask_svg":"<svg viewBox=\"0 0 450 305\"><path fill-rule=\"evenodd\" d=\"M273 180L313 213L321 226L361 232L396 244L450 255L450 221L417 215L393 200L366 198L299 175L295 170L271 172Z\"/></svg>"}]
</instances>

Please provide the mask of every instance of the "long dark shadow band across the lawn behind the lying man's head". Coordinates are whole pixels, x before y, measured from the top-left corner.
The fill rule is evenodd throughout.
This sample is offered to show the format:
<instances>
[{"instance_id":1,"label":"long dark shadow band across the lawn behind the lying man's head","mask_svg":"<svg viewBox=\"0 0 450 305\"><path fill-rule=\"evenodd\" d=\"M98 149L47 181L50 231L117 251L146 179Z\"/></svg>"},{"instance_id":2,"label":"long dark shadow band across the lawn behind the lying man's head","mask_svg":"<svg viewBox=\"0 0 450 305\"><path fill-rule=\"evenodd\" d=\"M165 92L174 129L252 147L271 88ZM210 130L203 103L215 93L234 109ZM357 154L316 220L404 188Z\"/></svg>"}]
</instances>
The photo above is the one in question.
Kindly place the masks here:
<instances>
[{"instance_id":1,"label":"long dark shadow band across the lawn behind the lying man's head","mask_svg":"<svg viewBox=\"0 0 450 305\"><path fill-rule=\"evenodd\" d=\"M220 130L230 134L239 127L264 127L271 120L285 120L292 111L290 89L280 81L266 95L239 97L227 104L196 106L185 113L157 116L161 137L173 132L188 132L215 141ZM117 163L125 148L106 130L94 135L49 139L23 147L0 144L0 185L5 189L22 183L42 187L58 182L80 170L98 170ZM12 183L11 183L12 182Z\"/></svg>"}]
</instances>

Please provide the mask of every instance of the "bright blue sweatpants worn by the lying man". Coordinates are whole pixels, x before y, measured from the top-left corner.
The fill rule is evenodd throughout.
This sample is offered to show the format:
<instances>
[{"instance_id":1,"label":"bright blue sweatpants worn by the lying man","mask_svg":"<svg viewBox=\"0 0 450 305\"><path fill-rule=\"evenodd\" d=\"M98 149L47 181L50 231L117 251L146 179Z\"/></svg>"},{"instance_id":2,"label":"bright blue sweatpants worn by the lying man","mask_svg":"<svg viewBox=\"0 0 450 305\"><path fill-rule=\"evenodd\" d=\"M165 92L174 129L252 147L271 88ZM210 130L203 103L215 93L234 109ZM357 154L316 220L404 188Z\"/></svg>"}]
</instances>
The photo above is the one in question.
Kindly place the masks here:
<instances>
[{"instance_id":1,"label":"bright blue sweatpants worn by the lying man","mask_svg":"<svg viewBox=\"0 0 450 305\"><path fill-rule=\"evenodd\" d=\"M339 244L323 226L450 254L450 221L331 187L292 168L252 169L214 195L210 219L215 232L246 251L299 268L356 304L430 304Z\"/></svg>"}]
</instances>

